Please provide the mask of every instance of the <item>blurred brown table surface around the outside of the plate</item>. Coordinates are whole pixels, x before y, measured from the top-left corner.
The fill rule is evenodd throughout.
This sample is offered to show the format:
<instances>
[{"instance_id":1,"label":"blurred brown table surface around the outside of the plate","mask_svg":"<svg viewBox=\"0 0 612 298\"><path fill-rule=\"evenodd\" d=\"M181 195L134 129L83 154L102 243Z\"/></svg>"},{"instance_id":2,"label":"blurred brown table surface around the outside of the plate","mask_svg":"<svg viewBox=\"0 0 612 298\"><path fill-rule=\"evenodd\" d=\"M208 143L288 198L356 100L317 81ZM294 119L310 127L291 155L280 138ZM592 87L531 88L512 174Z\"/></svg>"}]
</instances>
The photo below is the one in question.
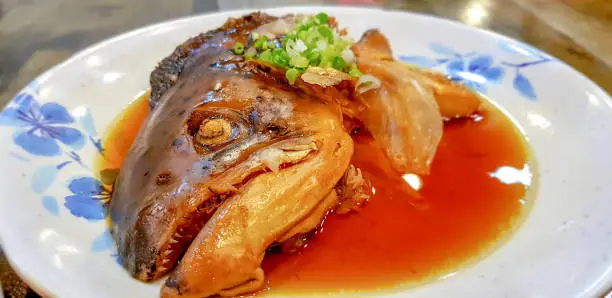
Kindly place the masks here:
<instances>
[{"instance_id":1,"label":"blurred brown table surface around the outside of the plate","mask_svg":"<svg viewBox=\"0 0 612 298\"><path fill-rule=\"evenodd\" d=\"M0 107L44 70L110 36L183 16L280 5L375 6L457 20L534 45L612 93L610 0L0 0ZM1 250L0 281L6 297L38 297Z\"/></svg>"}]
</instances>

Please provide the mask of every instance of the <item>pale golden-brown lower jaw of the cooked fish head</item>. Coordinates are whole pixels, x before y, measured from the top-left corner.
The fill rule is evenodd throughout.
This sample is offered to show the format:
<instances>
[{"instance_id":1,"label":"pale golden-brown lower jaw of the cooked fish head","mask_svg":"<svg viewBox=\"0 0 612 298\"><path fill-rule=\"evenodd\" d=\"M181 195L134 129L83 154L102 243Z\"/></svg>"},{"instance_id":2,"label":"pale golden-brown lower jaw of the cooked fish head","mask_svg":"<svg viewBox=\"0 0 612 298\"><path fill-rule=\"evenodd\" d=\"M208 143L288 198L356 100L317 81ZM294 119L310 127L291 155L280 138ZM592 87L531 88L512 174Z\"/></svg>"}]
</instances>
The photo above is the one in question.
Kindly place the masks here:
<instances>
[{"instance_id":1,"label":"pale golden-brown lower jaw of the cooked fish head","mask_svg":"<svg viewBox=\"0 0 612 298\"><path fill-rule=\"evenodd\" d=\"M266 248L301 232L294 227L329 204L353 154L340 117L319 105L298 117L308 123L316 148L298 164L253 178L217 209L167 279L162 297L233 296L264 286Z\"/></svg>"}]
</instances>

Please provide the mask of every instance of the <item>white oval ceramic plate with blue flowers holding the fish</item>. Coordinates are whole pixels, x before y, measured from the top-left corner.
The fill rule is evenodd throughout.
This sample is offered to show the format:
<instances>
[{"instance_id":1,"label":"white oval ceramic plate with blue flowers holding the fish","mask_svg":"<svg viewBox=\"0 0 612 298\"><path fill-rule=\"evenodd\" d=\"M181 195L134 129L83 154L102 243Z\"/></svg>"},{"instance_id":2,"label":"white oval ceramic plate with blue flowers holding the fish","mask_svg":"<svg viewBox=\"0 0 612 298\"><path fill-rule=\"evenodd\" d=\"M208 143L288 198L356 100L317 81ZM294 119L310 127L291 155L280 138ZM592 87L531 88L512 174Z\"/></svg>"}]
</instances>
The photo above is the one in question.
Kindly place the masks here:
<instances>
[{"instance_id":1,"label":"white oval ceramic plate with blue flowers holding the fish","mask_svg":"<svg viewBox=\"0 0 612 298\"><path fill-rule=\"evenodd\" d=\"M612 101L580 73L520 42L421 15L326 11L354 37L380 28L394 53L486 93L529 137L540 167L535 207L492 256L441 282L385 295L592 297L612 279ZM57 297L157 297L115 262L91 178L101 131L148 87L154 65L236 11L196 16L93 46L32 82L0 116L0 236L15 268ZM407 248L409 249L409 248ZM376 295L376 294L373 294ZM382 295L382 294L381 294ZM354 296L354 295L351 295Z\"/></svg>"}]
</instances>

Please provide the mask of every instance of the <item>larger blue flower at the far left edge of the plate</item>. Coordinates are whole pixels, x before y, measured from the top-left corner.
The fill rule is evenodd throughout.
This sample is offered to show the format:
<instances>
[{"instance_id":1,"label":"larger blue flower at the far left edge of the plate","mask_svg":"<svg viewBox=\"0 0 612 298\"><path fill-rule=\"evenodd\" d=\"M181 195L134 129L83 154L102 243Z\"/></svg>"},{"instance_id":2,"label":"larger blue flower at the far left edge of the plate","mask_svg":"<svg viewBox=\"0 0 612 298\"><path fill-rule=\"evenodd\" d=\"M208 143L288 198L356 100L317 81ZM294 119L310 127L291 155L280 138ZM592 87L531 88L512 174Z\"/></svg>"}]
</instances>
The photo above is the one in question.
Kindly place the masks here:
<instances>
[{"instance_id":1,"label":"larger blue flower at the far left edge of the plate","mask_svg":"<svg viewBox=\"0 0 612 298\"><path fill-rule=\"evenodd\" d=\"M13 136L15 144L30 154L57 156L62 153L58 142L73 149L85 144L83 134L66 124L74 119L63 106L48 102L42 106L34 96L21 93L11 105L0 113L0 125L17 128Z\"/></svg>"}]
</instances>

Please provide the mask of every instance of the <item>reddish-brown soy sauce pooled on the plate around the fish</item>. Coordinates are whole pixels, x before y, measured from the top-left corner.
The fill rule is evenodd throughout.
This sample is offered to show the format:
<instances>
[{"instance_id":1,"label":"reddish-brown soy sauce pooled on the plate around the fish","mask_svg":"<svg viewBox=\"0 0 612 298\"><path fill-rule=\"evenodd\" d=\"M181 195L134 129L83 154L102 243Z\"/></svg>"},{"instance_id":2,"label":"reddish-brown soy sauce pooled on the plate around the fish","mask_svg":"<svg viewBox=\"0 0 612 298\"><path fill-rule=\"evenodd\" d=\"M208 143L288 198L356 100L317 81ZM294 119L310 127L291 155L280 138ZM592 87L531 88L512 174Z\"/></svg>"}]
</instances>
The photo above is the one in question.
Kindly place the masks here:
<instances>
[{"instance_id":1,"label":"reddish-brown soy sauce pooled on the plate around the fish","mask_svg":"<svg viewBox=\"0 0 612 298\"><path fill-rule=\"evenodd\" d=\"M97 171L120 168L148 108L144 95L116 118ZM445 123L431 175L421 179L392 170L371 137L354 139L353 164L372 182L374 196L358 212L328 216L300 252L266 256L271 293L435 280L486 256L530 209L533 162L525 139L489 103L472 118Z\"/></svg>"}]
</instances>

